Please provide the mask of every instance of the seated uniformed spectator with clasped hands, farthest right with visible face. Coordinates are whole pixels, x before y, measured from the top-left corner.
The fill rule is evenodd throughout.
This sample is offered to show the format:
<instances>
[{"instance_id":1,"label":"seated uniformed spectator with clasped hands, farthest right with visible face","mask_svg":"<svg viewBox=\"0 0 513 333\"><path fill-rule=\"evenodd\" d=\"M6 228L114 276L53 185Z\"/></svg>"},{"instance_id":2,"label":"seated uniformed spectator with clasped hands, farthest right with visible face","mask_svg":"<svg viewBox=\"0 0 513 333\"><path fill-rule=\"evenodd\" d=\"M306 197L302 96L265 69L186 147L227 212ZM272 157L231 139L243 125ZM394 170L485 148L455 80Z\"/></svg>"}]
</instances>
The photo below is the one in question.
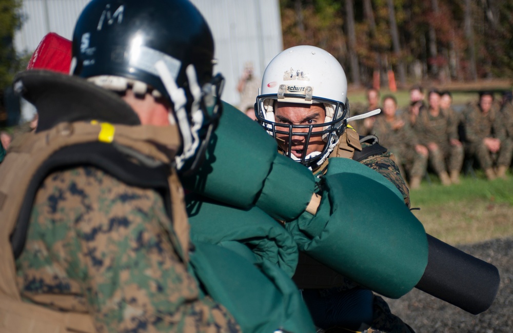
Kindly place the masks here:
<instances>
[{"instance_id":1,"label":"seated uniformed spectator with clasped hands, farthest right with visible face","mask_svg":"<svg viewBox=\"0 0 513 333\"><path fill-rule=\"evenodd\" d=\"M505 178L511 164L513 144L506 135L506 126L494 94L483 91L477 105L471 104L465 119L466 152L479 162L489 180ZM495 168L494 168L495 167Z\"/></svg>"}]
</instances>

